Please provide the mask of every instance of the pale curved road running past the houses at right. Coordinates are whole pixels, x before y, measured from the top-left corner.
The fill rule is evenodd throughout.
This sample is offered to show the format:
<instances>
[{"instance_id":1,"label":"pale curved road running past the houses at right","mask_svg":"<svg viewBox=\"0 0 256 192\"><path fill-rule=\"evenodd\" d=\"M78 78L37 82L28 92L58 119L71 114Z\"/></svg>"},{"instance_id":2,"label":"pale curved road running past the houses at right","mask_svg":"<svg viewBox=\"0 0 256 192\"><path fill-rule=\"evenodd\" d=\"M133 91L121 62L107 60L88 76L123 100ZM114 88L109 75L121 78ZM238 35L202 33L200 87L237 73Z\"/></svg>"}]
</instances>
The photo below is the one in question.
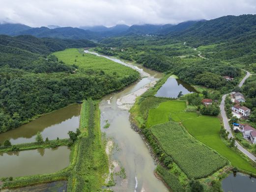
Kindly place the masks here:
<instances>
[{"instance_id":1,"label":"pale curved road running past the houses at right","mask_svg":"<svg viewBox=\"0 0 256 192\"><path fill-rule=\"evenodd\" d=\"M242 81L238 84L239 87L241 87L245 80L247 78L250 77L250 73L248 71L246 71L247 74L246 76L244 77L244 79L242 79ZM231 129L229 127L229 124L228 124L228 117L226 115L226 111L225 111L225 99L227 97L228 94L225 94L222 96L222 101L221 101L221 105L220 105L220 109L221 109L221 116L223 118L223 123L224 123L224 127L225 129L228 131L228 138L234 138L232 132L231 132ZM239 149L241 152L243 152L247 157L249 157L251 160L255 161L256 162L256 157L250 153L249 151L247 151L244 147L242 147L237 141L235 141L235 146L237 146L237 149Z\"/></svg>"}]
</instances>

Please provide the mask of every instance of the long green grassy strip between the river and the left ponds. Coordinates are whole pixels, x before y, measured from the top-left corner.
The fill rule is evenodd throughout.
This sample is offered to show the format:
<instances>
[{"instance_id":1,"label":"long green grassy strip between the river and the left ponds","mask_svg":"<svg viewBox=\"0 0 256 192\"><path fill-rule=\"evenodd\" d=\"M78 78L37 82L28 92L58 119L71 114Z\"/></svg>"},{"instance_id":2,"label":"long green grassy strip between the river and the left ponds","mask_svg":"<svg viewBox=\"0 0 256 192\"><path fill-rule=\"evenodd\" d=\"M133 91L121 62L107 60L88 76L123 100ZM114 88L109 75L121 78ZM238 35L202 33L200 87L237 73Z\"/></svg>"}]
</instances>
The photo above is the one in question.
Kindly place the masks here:
<instances>
[{"instance_id":1,"label":"long green grassy strip between the river and the left ponds","mask_svg":"<svg viewBox=\"0 0 256 192\"><path fill-rule=\"evenodd\" d=\"M78 158L74 170L72 192L96 192L104 185L102 177L108 172L108 158L101 143L100 111L98 104L86 101L89 116L88 135L79 139ZM86 113L85 113L86 114ZM83 127L81 131L84 131Z\"/></svg>"}]
</instances>

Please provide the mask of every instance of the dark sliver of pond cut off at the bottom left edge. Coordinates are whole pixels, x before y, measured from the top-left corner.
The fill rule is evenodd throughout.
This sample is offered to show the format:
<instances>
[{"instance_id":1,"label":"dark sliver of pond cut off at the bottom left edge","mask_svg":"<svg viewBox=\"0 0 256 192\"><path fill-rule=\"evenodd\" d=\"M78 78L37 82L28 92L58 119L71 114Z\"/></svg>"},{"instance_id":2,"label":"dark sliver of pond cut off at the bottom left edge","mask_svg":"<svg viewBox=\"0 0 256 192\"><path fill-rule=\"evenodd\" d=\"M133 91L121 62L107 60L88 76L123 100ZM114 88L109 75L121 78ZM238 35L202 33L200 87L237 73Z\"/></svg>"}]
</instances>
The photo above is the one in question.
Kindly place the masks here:
<instances>
[{"instance_id":1,"label":"dark sliver of pond cut off at the bottom left edge","mask_svg":"<svg viewBox=\"0 0 256 192\"><path fill-rule=\"evenodd\" d=\"M42 183L34 186L17 188L6 192L66 192L67 181L54 181L51 183Z\"/></svg>"}]
</instances>

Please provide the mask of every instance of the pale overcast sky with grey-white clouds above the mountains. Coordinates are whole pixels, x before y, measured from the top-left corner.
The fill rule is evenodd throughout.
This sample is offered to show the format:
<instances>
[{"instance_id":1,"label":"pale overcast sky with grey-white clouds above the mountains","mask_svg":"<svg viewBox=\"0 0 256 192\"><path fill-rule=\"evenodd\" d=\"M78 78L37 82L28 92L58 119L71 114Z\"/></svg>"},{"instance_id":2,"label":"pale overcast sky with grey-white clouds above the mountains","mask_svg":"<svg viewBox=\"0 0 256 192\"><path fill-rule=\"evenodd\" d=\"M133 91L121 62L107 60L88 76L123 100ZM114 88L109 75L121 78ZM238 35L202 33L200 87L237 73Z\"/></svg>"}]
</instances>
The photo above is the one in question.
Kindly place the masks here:
<instances>
[{"instance_id":1,"label":"pale overcast sky with grey-white clouds above the mountains","mask_svg":"<svg viewBox=\"0 0 256 192\"><path fill-rule=\"evenodd\" d=\"M58 25L177 24L256 14L256 0L0 0L0 22Z\"/></svg>"}]
</instances>

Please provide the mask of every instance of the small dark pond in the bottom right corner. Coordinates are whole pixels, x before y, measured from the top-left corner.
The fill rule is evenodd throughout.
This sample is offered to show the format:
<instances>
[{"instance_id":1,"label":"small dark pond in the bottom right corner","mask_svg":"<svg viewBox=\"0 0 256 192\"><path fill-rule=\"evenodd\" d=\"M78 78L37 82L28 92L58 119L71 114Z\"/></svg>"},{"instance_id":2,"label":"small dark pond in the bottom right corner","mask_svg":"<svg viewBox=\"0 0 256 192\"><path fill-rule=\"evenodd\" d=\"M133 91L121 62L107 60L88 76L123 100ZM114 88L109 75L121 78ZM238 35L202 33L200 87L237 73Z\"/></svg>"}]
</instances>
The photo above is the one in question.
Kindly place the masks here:
<instances>
[{"instance_id":1,"label":"small dark pond in the bottom right corner","mask_svg":"<svg viewBox=\"0 0 256 192\"><path fill-rule=\"evenodd\" d=\"M250 178L248 175L233 173L228 175L222 181L224 192L256 192L256 178Z\"/></svg>"}]
</instances>

